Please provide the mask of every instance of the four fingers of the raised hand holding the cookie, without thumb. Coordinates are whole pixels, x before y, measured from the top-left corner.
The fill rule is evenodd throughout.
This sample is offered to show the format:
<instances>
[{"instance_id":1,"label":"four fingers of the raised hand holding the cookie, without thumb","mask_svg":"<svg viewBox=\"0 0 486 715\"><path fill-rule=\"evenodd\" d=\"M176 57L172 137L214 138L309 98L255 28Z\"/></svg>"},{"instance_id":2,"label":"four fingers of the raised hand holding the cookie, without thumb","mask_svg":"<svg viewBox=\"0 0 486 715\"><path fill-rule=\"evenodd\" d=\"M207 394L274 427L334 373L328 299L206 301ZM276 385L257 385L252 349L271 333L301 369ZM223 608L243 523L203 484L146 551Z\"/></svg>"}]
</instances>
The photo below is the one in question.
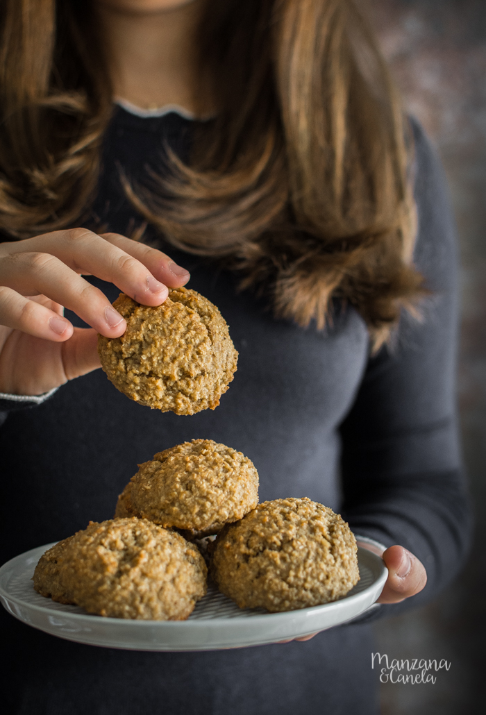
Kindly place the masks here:
<instances>
[{"instance_id":1,"label":"four fingers of the raised hand holding the cookie, without thumb","mask_svg":"<svg viewBox=\"0 0 486 715\"><path fill-rule=\"evenodd\" d=\"M118 234L100 237L86 229L73 229L4 243L0 246L0 285L17 295L13 300L11 294L2 310L3 325L24 325L22 330L39 337L61 330L64 324L59 321L52 323L51 330L46 313L34 327L41 312L33 312L19 299L19 294L42 294L69 307L102 335L119 337L126 328L124 319L101 291L81 277L83 272L113 282L137 302L153 306L167 298L167 286L180 287L189 280L187 270L164 253ZM61 340L69 337L59 335Z\"/></svg>"}]
</instances>

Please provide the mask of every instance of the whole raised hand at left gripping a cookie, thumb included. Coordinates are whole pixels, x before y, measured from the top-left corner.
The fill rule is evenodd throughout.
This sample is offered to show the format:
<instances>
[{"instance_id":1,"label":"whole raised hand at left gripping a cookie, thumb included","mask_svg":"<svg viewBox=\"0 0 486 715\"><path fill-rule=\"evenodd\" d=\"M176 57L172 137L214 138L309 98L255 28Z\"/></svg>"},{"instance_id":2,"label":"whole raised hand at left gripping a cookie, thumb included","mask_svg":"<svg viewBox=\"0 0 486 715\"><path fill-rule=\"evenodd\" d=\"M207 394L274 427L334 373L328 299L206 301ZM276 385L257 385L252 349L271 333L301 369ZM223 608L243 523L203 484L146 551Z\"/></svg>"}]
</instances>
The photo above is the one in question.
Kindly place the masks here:
<instances>
[{"instance_id":1,"label":"whole raised hand at left gripping a cookie, thumb included","mask_svg":"<svg viewBox=\"0 0 486 715\"><path fill-rule=\"evenodd\" d=\"M99 368L96 333L114 338L126 330L124 317L83 274L152 306L189 280L169 256L113 233L76 228L1 243L0 392L41 395L89 373ZM74 328L63 306L94 330Z\"/></svg>"}]
</instances>

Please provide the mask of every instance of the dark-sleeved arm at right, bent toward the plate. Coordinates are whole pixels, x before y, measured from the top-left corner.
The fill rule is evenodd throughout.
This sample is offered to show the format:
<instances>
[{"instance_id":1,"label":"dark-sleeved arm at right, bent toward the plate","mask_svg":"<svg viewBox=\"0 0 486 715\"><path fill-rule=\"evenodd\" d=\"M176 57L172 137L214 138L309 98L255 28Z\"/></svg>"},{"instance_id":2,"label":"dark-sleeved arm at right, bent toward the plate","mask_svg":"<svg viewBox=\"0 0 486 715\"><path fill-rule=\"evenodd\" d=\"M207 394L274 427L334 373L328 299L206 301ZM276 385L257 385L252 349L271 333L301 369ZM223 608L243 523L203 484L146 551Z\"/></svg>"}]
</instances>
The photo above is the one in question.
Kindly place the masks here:
<instances>
[{"instance_id":1,"label":"dark-sleeved arm at right, bent toward the plate","mask_svg":"<svg viewBox=\"0 0 486 715\"><path fill-rule=\"evenodd\" d=\"M422 320L404 315L395 345L370 359L342 425L342 474L343 513L353 531L405 546L427 569L427 586L412 599L418 604L459 570L471 516L455 408L454 223L440 164L417 125L414 134L415 262L432 296L422 305Z\"/></svg>"}]
</instances>

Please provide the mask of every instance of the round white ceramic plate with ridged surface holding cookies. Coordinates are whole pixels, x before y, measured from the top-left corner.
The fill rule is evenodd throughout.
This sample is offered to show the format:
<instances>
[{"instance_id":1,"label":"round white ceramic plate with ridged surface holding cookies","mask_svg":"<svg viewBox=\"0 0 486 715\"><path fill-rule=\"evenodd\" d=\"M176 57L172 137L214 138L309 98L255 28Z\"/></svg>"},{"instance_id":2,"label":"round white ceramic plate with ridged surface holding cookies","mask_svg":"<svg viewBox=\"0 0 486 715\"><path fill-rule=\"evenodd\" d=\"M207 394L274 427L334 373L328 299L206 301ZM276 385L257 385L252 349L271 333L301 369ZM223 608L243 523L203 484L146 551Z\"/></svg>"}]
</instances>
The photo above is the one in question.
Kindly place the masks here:
<instances>
[{"instance_id":1,"label":"round white ceramic plate with ridged surface holding cookies","mask_svg":"<svg viewBox=\"0 0 486 715\"><path fill-rule=\"evenodd\" d=\"M31 577L37 561L51 546L22 553L0 568L0 600L6 610L19 621L68 641L137 651L212 651L307 636L370 608L388 574L379 556L358 548L360 581L347 596L324 606L285 613L242 609L210 584L207 596L198 601L187 621L128 621L91 616L82 608L54 603L36 593Z\"/></svg>"}]
</instances>

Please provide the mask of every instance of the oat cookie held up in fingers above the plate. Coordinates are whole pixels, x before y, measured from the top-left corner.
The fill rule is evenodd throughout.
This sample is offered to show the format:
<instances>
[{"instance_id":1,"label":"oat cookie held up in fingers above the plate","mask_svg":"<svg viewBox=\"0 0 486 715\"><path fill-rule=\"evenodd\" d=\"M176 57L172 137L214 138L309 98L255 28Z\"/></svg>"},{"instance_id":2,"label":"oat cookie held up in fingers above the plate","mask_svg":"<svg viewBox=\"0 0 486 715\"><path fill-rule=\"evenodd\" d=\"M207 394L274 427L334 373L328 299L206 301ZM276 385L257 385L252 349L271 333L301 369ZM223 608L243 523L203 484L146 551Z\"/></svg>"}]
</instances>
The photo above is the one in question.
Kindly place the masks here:
<instances>
[{"instance_id":1,"label":"oat cookie held up in fingers above the plate","mask_svg":"<svg viewBox=\"0 0 486 715\"><path fill-rule=\"evenodd\" d=\"M162 412L193 415L219 405L237 369L227 323L212 302L177 288L158 307L122 293L114 307L127 321L122 337L98 337L101 366L132 400Z\"/></svg>"}]
</instances>

